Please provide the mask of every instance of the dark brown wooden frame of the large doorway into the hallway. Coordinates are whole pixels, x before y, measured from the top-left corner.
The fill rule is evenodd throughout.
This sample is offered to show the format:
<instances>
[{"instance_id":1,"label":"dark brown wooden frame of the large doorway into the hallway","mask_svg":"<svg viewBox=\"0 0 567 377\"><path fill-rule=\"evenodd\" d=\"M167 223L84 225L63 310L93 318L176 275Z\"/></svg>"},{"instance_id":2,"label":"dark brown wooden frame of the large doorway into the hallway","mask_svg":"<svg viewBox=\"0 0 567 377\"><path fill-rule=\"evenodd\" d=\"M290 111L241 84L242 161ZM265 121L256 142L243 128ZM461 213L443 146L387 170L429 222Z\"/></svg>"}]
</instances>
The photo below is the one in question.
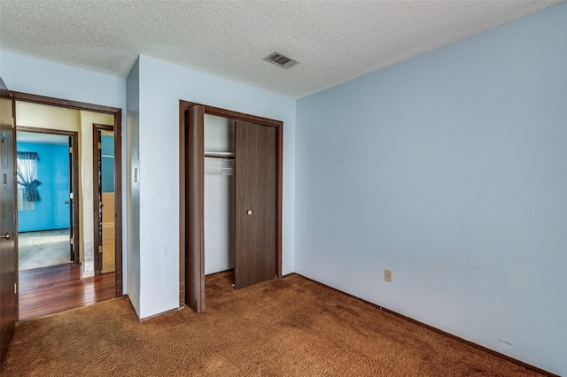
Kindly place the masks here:
<instances>
[{"instance_id":1,"label":"dark brown wooden frame of the large doorway into the hallway","mask_svg":"<svg viewBox=\"0 0 567 377\"><path fill-rule=\"evenodd\" d=\"M14 100L14 119L16 119L17 116L15 112L15 101L27 102L31 104L45 104L48 106L64 107L66 109L82 110L86 112L101 112L113 115L115 155L114 173L116 178L120 178L114 181L114 258L116 266L114 271L114 296L122 296L122 109L100 104L87 104L84 102L54 98L50 96L38 96L34 94L14 91L12 91L12 96ZM16 124L18 124L17 121ZM18 231L17 226L18 224L16 224L16 232Z\"/></svg>"}]
</instances>

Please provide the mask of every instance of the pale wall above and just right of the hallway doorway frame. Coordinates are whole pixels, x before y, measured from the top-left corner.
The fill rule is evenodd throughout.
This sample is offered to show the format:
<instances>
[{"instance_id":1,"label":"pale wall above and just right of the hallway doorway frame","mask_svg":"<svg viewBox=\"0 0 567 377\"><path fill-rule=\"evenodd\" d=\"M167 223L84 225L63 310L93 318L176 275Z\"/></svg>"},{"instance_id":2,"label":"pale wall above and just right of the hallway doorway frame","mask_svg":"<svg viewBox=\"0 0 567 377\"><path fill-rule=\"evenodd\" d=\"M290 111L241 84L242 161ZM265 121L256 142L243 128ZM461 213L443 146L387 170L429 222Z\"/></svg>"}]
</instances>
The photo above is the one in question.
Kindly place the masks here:
<instances>
[{"instance_id":1,"label":"pale wall above and just right of the hallway doorway frame","mask_svg":"<svg viewBox=\"0 0 567 377\"><path fill-rule=\"evenodd\" d=\"M47 60L28 58L0 50L0 77L6 86L13 91L30 93L40 96L50 96L61 99L100 104L122 109L122 124L126 125L126 81L120 77L104 73L95 73L81 68L61 65ZM122 130L123 142L127 135L125 127ZM126 160L126 144L123 144L122 158ZM123 171L124 172L124 171ZM128 174L122 173L123 186ZM122 206L125 207L126 197ZM126 211L124 211L126 213ZM122 248L127 250L126 229L128 218L122 219L123 236ZM128 293L128 258L122 256L124 293Z\"/></svg>"}]
</instances>

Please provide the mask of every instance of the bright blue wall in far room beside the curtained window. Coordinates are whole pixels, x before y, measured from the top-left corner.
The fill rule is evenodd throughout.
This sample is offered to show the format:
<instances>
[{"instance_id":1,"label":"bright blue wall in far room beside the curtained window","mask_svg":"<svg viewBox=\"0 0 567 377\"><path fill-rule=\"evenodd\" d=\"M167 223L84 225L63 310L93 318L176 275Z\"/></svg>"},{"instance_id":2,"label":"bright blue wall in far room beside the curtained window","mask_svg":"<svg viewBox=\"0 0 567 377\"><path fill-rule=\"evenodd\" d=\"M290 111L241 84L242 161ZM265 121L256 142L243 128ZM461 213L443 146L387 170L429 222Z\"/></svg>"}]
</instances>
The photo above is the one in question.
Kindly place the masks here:
<instances>
[{"instance_id":1,"label":"bright blue wall in far room beside the curtained window","mask_svg":"<svg viewBox=\"0 0 567 377\"><path fill-rule=\"evenodd\" d=\"M38 142L18 142L19 152L37 152L37 180L41 201L34 211L18 212L18 231L69 227L69 147Z\"/></svg>"}]
</instances>

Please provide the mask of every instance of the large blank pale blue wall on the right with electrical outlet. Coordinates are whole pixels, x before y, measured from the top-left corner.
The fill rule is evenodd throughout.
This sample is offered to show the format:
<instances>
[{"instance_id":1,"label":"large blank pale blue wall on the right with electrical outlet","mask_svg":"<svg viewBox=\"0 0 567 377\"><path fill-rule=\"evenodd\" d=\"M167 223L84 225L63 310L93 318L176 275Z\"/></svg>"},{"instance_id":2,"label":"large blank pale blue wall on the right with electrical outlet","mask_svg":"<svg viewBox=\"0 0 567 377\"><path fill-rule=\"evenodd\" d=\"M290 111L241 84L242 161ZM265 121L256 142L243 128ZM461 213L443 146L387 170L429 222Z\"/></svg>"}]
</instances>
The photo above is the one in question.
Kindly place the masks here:
<instances>
[{"instance_id":1,"label":"large blank pale blue wall on the right with electrical outlet","mask_svg":"<svg viewBox=\"0 0 567 377\"><path fill-rule=\"evenodd\" d=\"M296 272L566 375L566 38L559 4L300 99Z\"/></svg>"}]
</instances>

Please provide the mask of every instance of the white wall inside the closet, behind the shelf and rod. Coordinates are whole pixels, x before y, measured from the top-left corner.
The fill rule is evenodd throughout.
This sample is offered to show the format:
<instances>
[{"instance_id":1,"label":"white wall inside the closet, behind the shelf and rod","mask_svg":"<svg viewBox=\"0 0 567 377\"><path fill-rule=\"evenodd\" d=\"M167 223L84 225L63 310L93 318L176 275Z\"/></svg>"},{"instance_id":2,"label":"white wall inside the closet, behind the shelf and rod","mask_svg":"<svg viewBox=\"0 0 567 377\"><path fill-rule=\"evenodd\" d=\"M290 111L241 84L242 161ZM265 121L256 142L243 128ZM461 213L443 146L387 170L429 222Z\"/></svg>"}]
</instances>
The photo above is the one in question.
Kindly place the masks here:
<instances>
[{"instance_id":1,"label":"white wall inside the closet, behind the shelf and rod","mask_svg":"<svg viewBox=\"0 0 567 377\"><path fill-rule=\"evenodd\" d=\"M235 152L234 120L205 114L206 152ZM205 273L235 265L234 159L205 158Z\"/></svg>"}]
</instances>

